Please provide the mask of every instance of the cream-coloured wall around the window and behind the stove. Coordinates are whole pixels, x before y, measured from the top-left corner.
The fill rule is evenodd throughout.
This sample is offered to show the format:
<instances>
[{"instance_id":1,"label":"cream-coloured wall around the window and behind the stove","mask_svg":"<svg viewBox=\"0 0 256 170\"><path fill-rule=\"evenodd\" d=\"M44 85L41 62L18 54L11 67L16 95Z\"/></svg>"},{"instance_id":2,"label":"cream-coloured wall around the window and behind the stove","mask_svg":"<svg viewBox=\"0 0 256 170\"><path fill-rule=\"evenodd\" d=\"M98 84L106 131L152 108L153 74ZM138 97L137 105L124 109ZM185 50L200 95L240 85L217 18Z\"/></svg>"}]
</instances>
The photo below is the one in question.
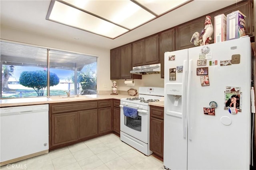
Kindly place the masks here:
<instances>
[{"instance_id":1,"label":"cream-coloured wall around the window and behind the stove","mask_svg":"<svg viewBox=\"0 0 256 170\"><path fill-rule=\"evenodd\" d=\"M1 39L98 56L98 90L112 90L112 81L110 80L110 49L81 45L79 41L77 44L74 44L62 41L61 39L53 39L2 25L0 29ZM118 90L123 91L127 91L130 88L138 90L140 86L164 87L164 79L160 78L160 74L142 75L142 80L134 80L135 86L126 86L124 80L116 81L118 82Z\"/></svg>"}]
</instances>

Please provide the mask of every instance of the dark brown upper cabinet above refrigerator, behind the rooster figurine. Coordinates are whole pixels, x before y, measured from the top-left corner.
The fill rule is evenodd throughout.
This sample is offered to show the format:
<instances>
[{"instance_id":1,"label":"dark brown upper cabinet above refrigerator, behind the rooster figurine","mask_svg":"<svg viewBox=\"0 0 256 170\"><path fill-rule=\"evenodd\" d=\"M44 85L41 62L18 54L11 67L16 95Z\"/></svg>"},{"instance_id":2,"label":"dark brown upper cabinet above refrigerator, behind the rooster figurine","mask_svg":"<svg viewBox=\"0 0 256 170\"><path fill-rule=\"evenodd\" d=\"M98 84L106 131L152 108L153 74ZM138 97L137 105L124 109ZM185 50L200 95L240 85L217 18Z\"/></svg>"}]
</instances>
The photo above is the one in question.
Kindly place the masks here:
<instances>
[{"instance_id":1,"label":"dark brown upper cabinet above refrigerator, behind the rooster figurine","mask_svg":"<svg viewBox=\"0 0 256 170\"><path fill-rule=\"evenodd\" d=\"M178 25L175 27L176 33L175 33L175 50L180 49L186 49L195 47L194 44L190 42L190 39L195 32L201 32L202 29L204 29L204 20L206 16L210 16L212 18L212 25L214 26L214 17L219 14L230 14L231 12L239 10L246 16L246 35L251 36L253 31L253 25L252 25L252 4L253 1L246 0L239 2L237 4L228 6L226 8L222 8L218 11L212 12L210 14L205 14L204 16L201 16L199 18L196 18L194 20L188 21L186 23L183 23L181 25ZM214 33L212 34L212 40L210 43L214 43Z\"/></svg>"}]
</instances>

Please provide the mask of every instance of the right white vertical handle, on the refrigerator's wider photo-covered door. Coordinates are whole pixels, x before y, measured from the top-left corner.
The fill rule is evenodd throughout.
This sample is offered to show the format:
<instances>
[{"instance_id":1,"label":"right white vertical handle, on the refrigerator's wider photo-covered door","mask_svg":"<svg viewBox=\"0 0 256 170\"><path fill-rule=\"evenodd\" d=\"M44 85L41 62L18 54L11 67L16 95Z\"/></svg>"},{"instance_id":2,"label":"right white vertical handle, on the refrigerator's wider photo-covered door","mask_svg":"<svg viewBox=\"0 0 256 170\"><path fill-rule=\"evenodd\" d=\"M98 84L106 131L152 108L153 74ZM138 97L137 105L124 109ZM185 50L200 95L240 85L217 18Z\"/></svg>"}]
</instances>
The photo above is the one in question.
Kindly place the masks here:
<instances>
[{"instance_id":1,"label":"right white vertical handle, on the refrigerator's wider photo-covered door","mask_svg":"<svg viewBox=\"0 0 256 170\"><path fill-rule=\"evenodd\" d=\"M188 98L187 98L187 110L190 108L190 90L191 90L191 76L192 76L192 60L188 61ZM191 114L192 112L190 112ZM188 139L191 141L192 140L192 125L191 125L191 118L192 115L188 114Z\"/></svg>"}]
</instances>

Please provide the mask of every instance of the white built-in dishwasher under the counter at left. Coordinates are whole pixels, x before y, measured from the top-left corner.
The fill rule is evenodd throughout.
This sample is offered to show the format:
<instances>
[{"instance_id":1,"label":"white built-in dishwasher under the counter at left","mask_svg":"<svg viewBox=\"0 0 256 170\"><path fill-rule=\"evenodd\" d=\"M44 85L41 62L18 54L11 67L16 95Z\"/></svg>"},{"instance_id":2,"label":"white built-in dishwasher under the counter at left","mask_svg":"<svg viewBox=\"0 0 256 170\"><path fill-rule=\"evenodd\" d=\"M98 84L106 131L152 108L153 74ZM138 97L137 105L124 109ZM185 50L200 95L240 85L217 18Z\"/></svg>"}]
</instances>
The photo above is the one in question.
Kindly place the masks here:
<instances>
[{"instance_id":1,"label":"white built-in dishwasher under the counter at left","mask_svg":"<svg viewBox=\"0 0 256 170\"><path fill-rule=\"evenodd\" d=\"M49 105L0 108L0 166L47 153Z\"/></svg>"}]
</instances>

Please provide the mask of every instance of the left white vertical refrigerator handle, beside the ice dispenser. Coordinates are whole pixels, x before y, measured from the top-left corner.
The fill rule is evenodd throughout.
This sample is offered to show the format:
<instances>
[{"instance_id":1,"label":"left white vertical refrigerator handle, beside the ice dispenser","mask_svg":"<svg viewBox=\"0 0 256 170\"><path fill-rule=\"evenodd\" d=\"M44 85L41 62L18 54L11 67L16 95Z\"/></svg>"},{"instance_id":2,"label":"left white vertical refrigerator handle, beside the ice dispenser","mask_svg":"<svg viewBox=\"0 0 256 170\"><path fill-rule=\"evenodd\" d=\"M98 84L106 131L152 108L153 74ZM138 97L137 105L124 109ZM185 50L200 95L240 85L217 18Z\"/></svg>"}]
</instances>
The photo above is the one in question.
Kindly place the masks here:
<instances>
[{"instance_id":1,"label":"left white vertical refrigerator handle, beside the ice dispenser","mask_svg":"<svg viewBox=\"0 0 256 170\"><path fill-rule=\"evenodd\" d=\"M188 72L188 61L183 61L183 74L182 74L182 127L183 127L183 137L186 139L187 137L187 104L186 104L186 80L187 80L187 72Z\"/></svg>"}]
</instances>

